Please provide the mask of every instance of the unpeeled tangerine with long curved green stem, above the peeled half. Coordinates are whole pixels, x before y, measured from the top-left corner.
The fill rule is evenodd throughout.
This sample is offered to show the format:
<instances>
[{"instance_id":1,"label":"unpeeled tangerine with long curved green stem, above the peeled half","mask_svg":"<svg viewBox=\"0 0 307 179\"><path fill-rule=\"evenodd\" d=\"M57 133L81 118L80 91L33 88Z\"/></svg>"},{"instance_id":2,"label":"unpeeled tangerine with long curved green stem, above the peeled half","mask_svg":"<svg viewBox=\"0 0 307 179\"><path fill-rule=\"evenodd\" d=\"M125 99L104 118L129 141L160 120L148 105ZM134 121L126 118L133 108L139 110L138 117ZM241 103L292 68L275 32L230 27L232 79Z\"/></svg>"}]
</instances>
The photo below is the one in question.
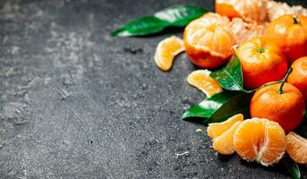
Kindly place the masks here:
<instances>
[{"instance_id":1,"label":"unpeeled tangerine with long curved green stem, above the peeled half","mask_svg":"<svg viewBox=\"0 0 307 179\"><path fill-rule=\"evenodd\" d=\"M279 94L280 84L271 85L255 92L250 104L252 117L267 118L282 126L285 132L294 130L303 120L305 102L300 90L285 83Z\"/></svg>"}]
</instances>

